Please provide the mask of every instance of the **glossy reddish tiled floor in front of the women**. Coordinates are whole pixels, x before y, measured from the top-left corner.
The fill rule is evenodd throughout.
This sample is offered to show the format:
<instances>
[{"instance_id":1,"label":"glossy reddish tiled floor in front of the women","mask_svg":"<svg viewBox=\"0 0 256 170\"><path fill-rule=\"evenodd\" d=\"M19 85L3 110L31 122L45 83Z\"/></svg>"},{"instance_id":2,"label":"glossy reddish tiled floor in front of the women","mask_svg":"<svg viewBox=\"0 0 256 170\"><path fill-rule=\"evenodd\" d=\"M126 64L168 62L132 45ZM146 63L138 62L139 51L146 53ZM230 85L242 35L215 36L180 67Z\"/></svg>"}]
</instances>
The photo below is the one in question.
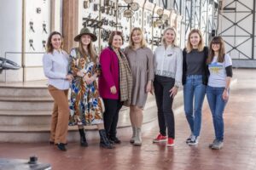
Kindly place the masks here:
<instances>
[{"instance_id":1,"label":"glossy reddish tiled floor in front of the women","mask_svg":"<svg viewBox=\"0 0 256 170\"><path fill-rule=\"evenodd\" d=\"M176 115L174 148L166 144L152 144L158 133L157 122L143 129L143 145L132 146L130 133L120 137L122 144L113 150L101 149L98 141L89 141L88 148L78 143L67 145L67 152L53 145L0 144L0 158L27 159L38 156L39 161L50 163L57 170L255 170L256 169L256 70L235 71L238 78L233 85L230 101L224 111L225 135L223 150L210 150L213 139L212 117L207 102L204 105L200 144L190 147L184 140L189 127L183 113ZM150 127L150 128L149 128Z\"/></svg>"}]
</instances>

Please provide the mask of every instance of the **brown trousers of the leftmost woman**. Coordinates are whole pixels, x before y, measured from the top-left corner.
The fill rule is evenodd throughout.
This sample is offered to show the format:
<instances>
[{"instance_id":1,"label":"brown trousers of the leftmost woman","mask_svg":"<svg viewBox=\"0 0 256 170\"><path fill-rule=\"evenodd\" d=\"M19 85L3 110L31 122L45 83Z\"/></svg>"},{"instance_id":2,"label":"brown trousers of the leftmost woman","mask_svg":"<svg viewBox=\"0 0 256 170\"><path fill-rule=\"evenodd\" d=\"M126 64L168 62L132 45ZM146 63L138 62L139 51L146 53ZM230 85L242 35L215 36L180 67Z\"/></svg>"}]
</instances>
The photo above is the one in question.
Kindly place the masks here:
<instances>
[{"instance_id":1,"label":"brown trousers of the leftmost woman","mask_svg":"<svg viewBox=\"0 0 256 170\"><path fill-rule=\"evenodd\" d=\"M67 100L68 90L60 90L51 85L49 85L48 90L55 102L51 115L49 140L55 142L55 144L66 144L69 120L69 106Z\"/></svg>"}]
</instances>

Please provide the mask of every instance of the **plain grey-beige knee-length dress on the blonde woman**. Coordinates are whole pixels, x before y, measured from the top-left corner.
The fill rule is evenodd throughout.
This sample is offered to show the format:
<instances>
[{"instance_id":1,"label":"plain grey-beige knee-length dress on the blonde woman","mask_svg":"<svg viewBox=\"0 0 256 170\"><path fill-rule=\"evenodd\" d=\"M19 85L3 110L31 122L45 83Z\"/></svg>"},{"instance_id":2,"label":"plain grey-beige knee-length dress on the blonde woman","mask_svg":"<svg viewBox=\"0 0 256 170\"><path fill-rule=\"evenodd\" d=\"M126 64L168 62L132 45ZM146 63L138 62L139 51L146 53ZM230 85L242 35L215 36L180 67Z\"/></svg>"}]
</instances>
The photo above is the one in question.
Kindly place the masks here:
<instances>
[{"instance_id":1,"label":"plain grey-beige knee-length dress on the blonde woman","mask_svg":"<svg viewBox=\"0 0 256 170\"><path fill-rule=\"evenodd\" d=\"M125 48L125 55L129 61L132 73L131 105L144 108L148 93L148 81L154 80L154 59L150 48Z\"/></svg>"}]
</instances>

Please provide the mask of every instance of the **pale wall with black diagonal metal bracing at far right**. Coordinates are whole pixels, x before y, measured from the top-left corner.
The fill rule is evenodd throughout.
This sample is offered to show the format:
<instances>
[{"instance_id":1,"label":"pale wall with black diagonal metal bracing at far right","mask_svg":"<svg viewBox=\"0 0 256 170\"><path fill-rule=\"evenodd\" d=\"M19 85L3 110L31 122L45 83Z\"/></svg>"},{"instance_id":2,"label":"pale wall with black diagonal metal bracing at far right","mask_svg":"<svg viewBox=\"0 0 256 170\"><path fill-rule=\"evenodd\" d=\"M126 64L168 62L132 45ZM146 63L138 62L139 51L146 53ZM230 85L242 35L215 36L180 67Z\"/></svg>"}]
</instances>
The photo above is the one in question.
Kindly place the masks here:
<instances>
[{"instance_id":1,"label":"pale wall with black diagonal metal bracing at far right","mask_svg":"<svg viewBox=\"0 0 256 170\"><path fill-rule=\"evenodd\" d=\"M218 35L235 67L256 68L255 0L221 0Z\"/></svg>"}]
</instances>

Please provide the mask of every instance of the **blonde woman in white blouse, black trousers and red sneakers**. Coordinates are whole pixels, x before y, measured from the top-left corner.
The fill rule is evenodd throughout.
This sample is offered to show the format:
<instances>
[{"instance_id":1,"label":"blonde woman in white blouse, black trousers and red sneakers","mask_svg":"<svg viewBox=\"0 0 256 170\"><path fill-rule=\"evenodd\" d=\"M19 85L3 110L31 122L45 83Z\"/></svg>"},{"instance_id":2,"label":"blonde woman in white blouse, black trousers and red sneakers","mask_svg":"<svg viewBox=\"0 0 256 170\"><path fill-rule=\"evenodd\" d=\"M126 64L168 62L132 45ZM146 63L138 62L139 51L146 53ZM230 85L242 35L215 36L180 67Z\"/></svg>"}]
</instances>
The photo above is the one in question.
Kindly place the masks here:
<instances>
[{"instance_id":1,"label":"blonde woman in white blouse, black trousers and red sneakers","mask_svg":"<svg viewBox=\"0 0 256 170\"><path fill-rule=\"evenodd\" d=\"M163 33L162 45L154 51L154 93L160 127L160 133L153 140L154 143L167 140L167 146L174 145L175 123L172 102L177 94L177 88L182 86L182 60L182 50L176 45L176 31L168 27Z\"/></svg>"}]
</instances>

